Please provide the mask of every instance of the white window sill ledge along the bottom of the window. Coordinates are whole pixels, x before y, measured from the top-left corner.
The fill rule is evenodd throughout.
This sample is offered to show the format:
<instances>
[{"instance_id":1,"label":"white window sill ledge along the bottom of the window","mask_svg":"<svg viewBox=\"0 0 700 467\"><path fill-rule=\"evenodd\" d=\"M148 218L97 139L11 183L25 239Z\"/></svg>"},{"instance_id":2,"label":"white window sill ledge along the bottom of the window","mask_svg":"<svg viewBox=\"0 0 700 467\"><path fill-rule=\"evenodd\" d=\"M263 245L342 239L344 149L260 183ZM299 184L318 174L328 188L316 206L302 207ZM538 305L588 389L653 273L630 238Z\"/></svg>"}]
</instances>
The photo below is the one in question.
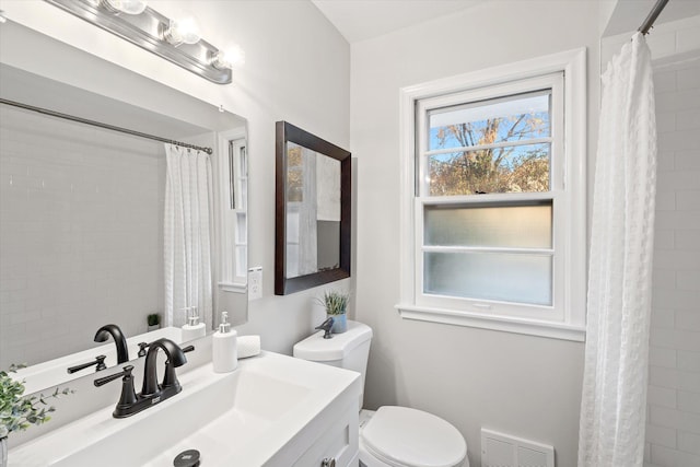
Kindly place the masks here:
<instances>
[{"instance_id":1,"label":"white window sill ledge along the bottom of the window","mask_svg":"<svg viewBox=\"0 0 700 467\"><path fill-rule=\"evenodd\" d=\"M406 304L397 304L395 308L398 310L399 315L404 319L493 329L505 332L549 337L552 339L573 340L576 342L585 341L586 337L585 327L561 323L517 319L503 316L485 316L469 312L455 312L452 310Z\"/></svg>"}]
</instances>

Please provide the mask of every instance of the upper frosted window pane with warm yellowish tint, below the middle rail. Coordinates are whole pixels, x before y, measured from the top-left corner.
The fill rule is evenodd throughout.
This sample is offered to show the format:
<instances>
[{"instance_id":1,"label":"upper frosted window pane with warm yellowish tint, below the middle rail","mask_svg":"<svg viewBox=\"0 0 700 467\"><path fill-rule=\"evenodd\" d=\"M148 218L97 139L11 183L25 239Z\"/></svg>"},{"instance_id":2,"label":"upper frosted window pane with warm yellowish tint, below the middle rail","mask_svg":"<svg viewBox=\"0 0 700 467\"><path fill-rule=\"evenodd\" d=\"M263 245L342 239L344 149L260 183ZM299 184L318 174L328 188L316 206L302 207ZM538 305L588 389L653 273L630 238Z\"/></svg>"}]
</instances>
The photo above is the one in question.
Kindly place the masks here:
<instances>
[{"instance_id":1,"label":"upper frosted window pane with warm yellowish tint, below the middle rail","mask_svg":"<svg viewBox=\"0 0 700 467\"><path fill-rule=\"evenodd\" d=\"M425 206L428 246L551 248L552 201L526 206Z\"/></svg>"}]
</instances>

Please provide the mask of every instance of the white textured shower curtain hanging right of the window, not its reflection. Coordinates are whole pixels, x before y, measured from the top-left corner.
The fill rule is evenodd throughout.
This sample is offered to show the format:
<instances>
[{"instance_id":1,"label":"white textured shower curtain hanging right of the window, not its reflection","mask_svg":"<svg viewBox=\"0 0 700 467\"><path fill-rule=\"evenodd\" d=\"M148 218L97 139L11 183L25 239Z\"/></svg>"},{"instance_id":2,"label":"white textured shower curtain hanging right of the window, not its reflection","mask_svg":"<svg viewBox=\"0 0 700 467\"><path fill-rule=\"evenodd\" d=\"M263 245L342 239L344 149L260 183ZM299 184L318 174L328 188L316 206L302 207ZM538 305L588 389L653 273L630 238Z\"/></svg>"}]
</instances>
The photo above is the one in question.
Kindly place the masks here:
<instances>
[{"instance_id":1,"label":"white textured shower curtain hanging right of the window, not its reflection","mask_svg":"<svg viewBox=\"0 0 700 467\"><path fill-rule=\"evenodd\" d=\"M603 74L579 467L643 462L655 191L651 54L637 33Z\"/></svg>"}]
</instances>

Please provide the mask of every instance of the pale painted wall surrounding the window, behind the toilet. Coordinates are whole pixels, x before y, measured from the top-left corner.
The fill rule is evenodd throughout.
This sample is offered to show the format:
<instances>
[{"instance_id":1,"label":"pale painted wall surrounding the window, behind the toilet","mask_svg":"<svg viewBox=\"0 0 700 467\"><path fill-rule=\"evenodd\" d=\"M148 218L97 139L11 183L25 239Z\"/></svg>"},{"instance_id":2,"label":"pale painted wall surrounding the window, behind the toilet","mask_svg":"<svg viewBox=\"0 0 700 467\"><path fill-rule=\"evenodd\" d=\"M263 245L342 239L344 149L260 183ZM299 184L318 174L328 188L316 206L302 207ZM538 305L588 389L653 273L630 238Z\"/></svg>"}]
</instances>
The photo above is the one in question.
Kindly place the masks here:
<instances>
[{"instance_id":1,"label":"pale painted wall surrounding the window, behind the toilet","mask_svg":"<svg viewBox=\"0 0 700 467\"><path fill-rule=\"evenodd\" d=\"M445 418L465 435L476 466L481 427L552 444L557 465L576 464L583 345L399 317L399 89L585 46L595 148L598 21L591 1L485 2L351 47L357 317L375 331L365 405ZM592 163L593 155L590 173Z\"/></svg>"}]
</instances>

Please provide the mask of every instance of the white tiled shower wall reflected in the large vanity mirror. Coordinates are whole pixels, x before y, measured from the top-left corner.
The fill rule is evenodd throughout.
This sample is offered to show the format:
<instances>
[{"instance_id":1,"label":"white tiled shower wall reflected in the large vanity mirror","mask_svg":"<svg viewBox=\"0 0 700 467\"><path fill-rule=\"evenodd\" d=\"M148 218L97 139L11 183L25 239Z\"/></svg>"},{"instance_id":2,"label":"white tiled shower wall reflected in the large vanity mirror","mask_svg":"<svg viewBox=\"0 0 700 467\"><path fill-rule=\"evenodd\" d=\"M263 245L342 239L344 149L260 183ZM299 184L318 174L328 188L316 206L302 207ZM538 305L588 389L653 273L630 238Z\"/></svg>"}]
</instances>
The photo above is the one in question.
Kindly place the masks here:
<instances>
[{"instance_id":1,"label":"white tiled shower wall reflected in the large vanity mirror","mask_svg":"<svg viewBox=\"0 0 700 467\"><path fill-rule=\"evenodd\" d=\"M163 308L161 143L0 108L0 367Z\"/></svg>"}]
</instances>

